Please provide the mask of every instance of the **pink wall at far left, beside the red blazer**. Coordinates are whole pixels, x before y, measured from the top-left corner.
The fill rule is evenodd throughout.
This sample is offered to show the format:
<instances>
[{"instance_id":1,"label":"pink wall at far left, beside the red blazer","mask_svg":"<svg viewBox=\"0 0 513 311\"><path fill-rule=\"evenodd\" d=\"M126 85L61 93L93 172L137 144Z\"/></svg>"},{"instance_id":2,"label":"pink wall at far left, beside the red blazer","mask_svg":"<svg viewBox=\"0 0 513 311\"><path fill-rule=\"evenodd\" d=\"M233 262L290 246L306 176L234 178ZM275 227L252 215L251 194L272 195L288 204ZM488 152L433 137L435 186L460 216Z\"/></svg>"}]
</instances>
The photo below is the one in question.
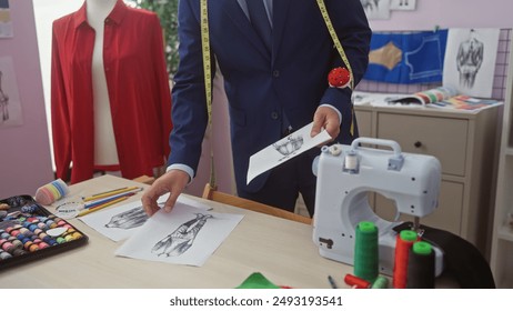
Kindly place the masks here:
<instances>
[{"instance_id":1,"label":"pink wall at far left, beside the red blazer","mask_svg":"<svg viewBox=\"0 0 513 311\"><path fill-rule=\"evenodd\" d=\"M23 124L0 127L0 199L53 180L32 1L9 2L14 36L0 39L0 57L12 58Z\"/></svg>"}]
</instances>

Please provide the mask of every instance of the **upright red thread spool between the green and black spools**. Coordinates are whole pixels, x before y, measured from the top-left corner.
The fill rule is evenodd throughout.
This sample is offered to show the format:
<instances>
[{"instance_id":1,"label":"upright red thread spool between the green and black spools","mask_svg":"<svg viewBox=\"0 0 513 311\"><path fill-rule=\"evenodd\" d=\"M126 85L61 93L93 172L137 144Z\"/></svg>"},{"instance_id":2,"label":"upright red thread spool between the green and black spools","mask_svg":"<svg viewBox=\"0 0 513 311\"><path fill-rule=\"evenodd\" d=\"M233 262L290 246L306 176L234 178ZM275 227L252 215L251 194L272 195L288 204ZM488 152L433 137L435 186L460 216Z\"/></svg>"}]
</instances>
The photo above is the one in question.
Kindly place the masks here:
<instances>
[{"instance_id":1,"label":"upright red thread spool between the green and black spools","mask_svg":"<svg viewBox=\"0 0 513 311\"><path fill-rule=\"evenodd\" d=\"M395 260L392 285L394 289L406 288L408 257L413 243L419 237L413 230L403 230L395 240Z\"/></svg>"}]
</instances>

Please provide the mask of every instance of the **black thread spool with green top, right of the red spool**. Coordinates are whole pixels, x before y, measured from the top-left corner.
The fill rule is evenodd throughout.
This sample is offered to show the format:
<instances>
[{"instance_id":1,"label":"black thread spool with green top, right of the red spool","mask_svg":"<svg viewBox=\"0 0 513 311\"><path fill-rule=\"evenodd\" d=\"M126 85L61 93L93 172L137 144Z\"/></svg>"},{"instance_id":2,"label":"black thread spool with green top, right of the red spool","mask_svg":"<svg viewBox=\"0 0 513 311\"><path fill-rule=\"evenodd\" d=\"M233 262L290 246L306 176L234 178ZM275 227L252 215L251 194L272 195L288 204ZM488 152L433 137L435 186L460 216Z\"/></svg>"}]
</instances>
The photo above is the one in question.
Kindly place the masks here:
<instances>
[{"instance_id":1,"label":"black thread spool with green top, right of the red spool","mask_svg":"<svg viewBox=\"0 0 513 311\"><path fill-rule=\"evenodd\" d=\"M430 243L413 243L408 258L406 289L434 289L434 251Z\"/></svg>"}]
</instances>

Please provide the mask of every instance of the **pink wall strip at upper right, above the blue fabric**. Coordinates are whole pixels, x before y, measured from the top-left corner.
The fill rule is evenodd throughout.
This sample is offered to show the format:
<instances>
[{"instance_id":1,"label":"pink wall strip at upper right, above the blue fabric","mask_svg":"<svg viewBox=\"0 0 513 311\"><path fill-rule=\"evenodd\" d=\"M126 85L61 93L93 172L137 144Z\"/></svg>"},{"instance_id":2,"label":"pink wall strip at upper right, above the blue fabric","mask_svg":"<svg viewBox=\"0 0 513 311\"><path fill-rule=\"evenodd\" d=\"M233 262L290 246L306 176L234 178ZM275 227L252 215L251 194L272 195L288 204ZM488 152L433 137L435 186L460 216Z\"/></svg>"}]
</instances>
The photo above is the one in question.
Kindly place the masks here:
<instances>
[{"instance_id":1,"label":"pink wall strip at upper right, above the blue fabric","mask_svg":"<svg viewBox=\"0 0 513 311\"><path fill-rule=\"evenodd\" d=\"M415 11L392 11L390 20L371 20L373 30L512 28L512 0L416 0Z\"/></svg>"}]
</instances>

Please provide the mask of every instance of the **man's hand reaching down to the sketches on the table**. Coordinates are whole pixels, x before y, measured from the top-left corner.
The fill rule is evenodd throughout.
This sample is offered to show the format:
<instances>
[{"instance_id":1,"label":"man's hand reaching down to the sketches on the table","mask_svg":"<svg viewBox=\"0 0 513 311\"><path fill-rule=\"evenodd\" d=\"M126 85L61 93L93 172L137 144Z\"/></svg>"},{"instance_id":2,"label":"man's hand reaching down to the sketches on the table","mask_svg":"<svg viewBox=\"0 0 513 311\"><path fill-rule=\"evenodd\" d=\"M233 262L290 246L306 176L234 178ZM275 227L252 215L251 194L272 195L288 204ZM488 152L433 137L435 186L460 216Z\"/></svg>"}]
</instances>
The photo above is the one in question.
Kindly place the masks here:
<instances>
[{"instance_id":1,"label":"man's hand reaching down to the sketches on the table","mask_svg":"<svg viewBox=\"0 0 513 311\"><path fill-rule=\"evenodd\" d=\"M158 178L153 184L148 188L142 194L141 202L144 212L148 215L154 214L160 210L157 204L157 200L160 195L170 193L168 201L164 204L164 211L170 212L174 203L177 203L178 197L182 193L185 185L189 183L189 174L181 170L170 170L160 178Z\"/></svg>"}]
</instances>

